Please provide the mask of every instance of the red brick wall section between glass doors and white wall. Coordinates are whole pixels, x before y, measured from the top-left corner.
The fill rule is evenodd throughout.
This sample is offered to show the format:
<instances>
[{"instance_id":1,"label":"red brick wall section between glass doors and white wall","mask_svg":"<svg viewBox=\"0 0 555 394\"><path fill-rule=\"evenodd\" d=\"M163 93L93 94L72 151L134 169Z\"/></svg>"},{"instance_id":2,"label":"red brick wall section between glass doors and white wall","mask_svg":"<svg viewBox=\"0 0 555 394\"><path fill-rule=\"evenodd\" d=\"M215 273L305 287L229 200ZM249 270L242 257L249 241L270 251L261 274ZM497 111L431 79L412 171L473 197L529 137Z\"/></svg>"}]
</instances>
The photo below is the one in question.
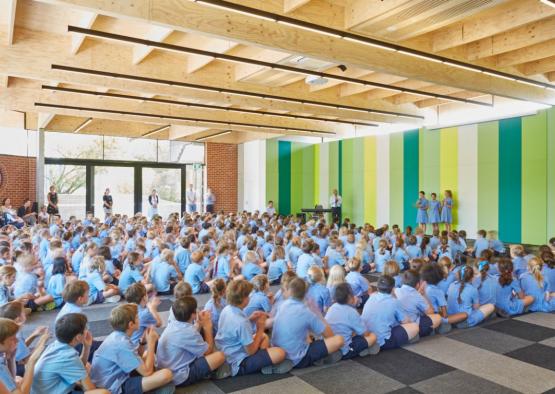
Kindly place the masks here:
<instances>
[{"instance_id":1,"label":"red brick wall section between glass doors and white wall","mask_svg":"<svg viewBox=\"0 0 555 394\"><path fill-rule=\"evenodd\" d=\"M237 212L238 149L233 144L205 144L207 187L216 195L216 211Z\"/></svg>"}]
</instances>

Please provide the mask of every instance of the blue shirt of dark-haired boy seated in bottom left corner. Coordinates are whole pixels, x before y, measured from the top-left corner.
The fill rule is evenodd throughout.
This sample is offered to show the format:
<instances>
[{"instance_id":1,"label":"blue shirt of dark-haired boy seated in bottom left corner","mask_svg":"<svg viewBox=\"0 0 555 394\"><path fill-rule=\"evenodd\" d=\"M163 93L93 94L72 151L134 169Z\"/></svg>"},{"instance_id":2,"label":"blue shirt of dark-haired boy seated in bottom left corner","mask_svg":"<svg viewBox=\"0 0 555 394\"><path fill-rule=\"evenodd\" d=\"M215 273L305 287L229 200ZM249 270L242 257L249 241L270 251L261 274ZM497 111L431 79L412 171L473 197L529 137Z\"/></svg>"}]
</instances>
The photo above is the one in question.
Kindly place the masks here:
<instances>
[{"instance_id":1,"label":"blue shirt of dark-haired boy seated in bottom left corner","mask_svg":"<svg viewBox=\"0 0 555 394\"><path fill-rule=\"evenodd\" d=\"M65 394L87 377L87 370L75 348L54 341L44 350L33 376L32 394Z\"/></svg>"}]
</instances>

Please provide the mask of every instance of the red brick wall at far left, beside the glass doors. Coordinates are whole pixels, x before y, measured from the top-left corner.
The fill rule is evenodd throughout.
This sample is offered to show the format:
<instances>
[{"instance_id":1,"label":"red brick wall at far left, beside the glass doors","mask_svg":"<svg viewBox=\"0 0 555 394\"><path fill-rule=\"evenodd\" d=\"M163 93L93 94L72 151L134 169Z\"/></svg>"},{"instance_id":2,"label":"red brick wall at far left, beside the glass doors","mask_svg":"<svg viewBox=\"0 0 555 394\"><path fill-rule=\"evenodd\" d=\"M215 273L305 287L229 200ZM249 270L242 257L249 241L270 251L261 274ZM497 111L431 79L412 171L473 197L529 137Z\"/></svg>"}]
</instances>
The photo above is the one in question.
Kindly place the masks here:
<instances>
[{"instance_id":1,"label":"red brick wall at far left, beside the glass doors","mask_svg":"<svg viewBox=\"0 0 555 394\"><path fill-rule=\"evenodd\" d=\"M24 156L0 155L0 202L6 197L19 208L23 200L36 200L36 159Z\"/></svg>"}]
</instances>

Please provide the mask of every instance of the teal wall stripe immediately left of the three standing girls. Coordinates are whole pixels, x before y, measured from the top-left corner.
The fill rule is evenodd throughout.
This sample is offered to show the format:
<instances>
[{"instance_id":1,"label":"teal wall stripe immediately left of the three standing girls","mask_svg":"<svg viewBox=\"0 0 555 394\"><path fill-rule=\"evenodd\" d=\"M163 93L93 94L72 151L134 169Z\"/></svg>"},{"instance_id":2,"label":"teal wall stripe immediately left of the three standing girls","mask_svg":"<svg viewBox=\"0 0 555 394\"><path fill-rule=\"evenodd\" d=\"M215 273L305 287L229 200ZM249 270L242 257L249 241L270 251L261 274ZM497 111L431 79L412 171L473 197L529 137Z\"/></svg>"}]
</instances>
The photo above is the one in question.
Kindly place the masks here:
<instances>
[{"instance_id":1,"label":"teal wall stripe immediately left of the three standing girls","mask_svg":"<svg viewBox=\"0 0 555 394\"><path fill-rule=\"evenodd\" d=\"M403 226L416 226L418 199L418 130L403 134Z\"/></svg>"}]
</instances>

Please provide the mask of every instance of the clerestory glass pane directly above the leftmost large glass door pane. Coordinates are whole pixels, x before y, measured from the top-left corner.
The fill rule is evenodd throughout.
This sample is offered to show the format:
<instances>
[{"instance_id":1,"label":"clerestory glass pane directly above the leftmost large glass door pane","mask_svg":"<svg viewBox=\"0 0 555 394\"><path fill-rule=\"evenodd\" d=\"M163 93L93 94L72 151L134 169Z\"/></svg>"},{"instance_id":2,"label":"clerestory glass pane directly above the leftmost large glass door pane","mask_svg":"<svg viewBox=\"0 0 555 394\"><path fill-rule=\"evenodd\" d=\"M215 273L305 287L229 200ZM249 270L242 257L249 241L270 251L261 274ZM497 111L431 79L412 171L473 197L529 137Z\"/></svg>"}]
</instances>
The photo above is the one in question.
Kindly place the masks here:
<instances>
[{"instance_id":1,"label":"clerestory glass pane directly above the leftmost large glass door pane","mask_svg":"<svg viewBox=\"0 0 555 394\"><path fill-rule=\"evenodd\" d=\"M102 136L45 133L44 155L54 158L102 159Z\"/></svg>"}]
</instances>

